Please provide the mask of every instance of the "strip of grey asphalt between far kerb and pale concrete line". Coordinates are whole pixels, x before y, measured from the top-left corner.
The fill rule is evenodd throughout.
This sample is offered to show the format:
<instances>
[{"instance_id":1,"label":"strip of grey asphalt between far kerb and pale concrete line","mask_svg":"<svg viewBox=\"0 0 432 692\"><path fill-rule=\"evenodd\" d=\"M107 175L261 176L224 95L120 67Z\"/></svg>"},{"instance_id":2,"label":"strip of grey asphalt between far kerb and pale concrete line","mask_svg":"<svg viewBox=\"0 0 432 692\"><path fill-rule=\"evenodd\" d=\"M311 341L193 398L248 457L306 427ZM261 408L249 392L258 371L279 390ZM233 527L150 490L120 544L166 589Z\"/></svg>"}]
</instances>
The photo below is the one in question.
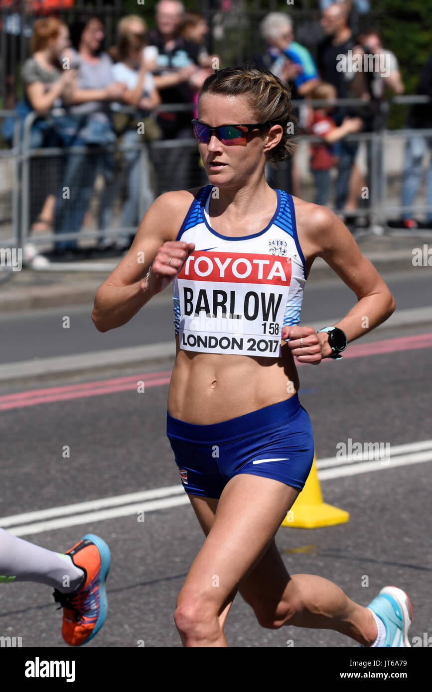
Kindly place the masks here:
<instances>
[{"instance_id":1,"label":"strip of grey asphalt between far kerb and pale concrete line","mask_svg":"<svg viewBox=\"0 0 432 692\"><path fill-rule=\"evenodd\" d=\"M383 274L383 278L395 296L397 310L432 304L431 277L427 268ZM354 293L339 277L335 275L334 280L314 282L312 271L305 288L301 322L307 324L320 319L341 318L355 302ZM91 321L92 307L87 305L0 315L1 363L174 340L171 287L163 295L150 300L126 325L105 334L97 331ZM62 326L65 316L70 319L69 329Z\"/></svg>"}]
</instances>

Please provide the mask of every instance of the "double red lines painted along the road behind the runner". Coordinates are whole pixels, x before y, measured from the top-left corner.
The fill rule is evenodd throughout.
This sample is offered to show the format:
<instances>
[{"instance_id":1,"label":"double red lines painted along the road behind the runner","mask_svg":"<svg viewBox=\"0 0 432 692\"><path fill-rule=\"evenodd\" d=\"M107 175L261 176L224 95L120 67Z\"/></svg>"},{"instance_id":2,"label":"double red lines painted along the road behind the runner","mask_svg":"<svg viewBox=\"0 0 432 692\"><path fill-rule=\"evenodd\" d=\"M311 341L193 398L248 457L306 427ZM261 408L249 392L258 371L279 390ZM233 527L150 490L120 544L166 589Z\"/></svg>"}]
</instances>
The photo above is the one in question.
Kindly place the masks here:
<instances>
[{"instance_id":1,"label":"double red lines painted along the road behind the runner","mask_svg":"<svg viewBox=\"0 0 432 692\"><path fill-rule=\"evenodd\" d=\"M353 344L348 346L343 358L360 358L361 356L377 356L384 353L397 351L411 351L413 349L432 347L432 332L429 334L415 334L413 336L402 336L394 339L384 339L368 344ZM326 358L326 361L329 361ZM307 365L298 363L297 365ZM17 392L16 394L5 394L0 397L0 411L7 411L11 408L22 408L24 406L36 406L39 403L53 403L53 401L67 401L69 399L80 399L82 397L97 397L100 394L111 394L112 392L125 392L136 390L139 380L144 382L144 388L159 387L170 383L171 370L161 370L159 372L145 372L143 374L131 375L127 377L116 377L109 380L97 380L74 385L64 385L61 387L50 387L47 389L28 390Z\"/></svg>"}]
</instances>

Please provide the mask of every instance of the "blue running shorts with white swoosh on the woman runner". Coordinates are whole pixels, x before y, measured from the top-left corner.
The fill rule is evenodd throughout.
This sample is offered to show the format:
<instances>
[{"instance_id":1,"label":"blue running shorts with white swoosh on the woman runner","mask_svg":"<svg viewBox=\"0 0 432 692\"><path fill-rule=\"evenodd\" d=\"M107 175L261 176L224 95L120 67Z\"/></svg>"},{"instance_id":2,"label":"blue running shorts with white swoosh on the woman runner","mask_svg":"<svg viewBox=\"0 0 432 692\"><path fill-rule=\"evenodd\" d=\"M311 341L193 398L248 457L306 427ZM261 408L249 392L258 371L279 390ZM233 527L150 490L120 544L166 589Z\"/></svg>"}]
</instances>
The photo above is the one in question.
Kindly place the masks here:
<instances>
[{"instance_id":1,"label":"blue running shorts with white swoosh on the woman runner","mask_svg":"<svg viewBox=\"0 0 432 692\"><path fill-rule=\"evenodd\" d=\"M195 425L167 411L168 439L183 487L220 498L237 473L274 478L303 490L314 460L314 437L298 395L222 423Z\"/></svg>"}]
</instances>

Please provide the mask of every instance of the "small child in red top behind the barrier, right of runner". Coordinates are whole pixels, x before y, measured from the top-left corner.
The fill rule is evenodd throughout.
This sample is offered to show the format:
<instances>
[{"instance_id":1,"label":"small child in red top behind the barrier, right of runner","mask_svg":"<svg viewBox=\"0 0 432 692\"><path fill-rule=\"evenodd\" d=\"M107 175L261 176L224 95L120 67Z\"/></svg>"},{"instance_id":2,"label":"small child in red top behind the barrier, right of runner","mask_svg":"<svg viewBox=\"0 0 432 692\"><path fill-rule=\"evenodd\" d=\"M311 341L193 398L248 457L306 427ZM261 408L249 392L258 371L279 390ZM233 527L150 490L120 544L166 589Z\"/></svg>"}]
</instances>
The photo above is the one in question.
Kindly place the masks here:
<instances>
[{"instance_id":1,"label":"small child in red top behind the barrier, right of runner","mask_svg":"<svg viewBox=\"0 0 432 692\"><path fill-rule=\"evenodd\" d=\"M316 86L311 96L316 99L334 99L336 89L332 84L323 83ZM309 118L310 134L323 139L323 144L311 145L310 167L315 183L315 204L327 204L329 198L330 171L337 163L332 145L347 134L358 132L363 126L360 118L344 118L338 127L330 115L332 110L331 106L316 108Z\"/></svg>"}]
</instances>

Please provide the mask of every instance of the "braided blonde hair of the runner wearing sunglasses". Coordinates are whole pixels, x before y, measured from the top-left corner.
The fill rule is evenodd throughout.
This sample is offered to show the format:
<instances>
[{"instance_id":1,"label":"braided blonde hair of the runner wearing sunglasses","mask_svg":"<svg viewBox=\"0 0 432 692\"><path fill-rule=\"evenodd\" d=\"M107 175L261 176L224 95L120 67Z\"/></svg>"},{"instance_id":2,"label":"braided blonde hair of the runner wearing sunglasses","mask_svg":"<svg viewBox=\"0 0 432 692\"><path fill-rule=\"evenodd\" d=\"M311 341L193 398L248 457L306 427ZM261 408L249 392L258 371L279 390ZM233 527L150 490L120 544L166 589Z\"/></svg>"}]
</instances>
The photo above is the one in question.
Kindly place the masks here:
<instances>
[{"instance_id":1,"label":"braided blonde hair of the runner wearing sunglasses","mask_svg":"<svg viewBox=\"0 0 432 692\"><path fill-rule=\"evenodd\" d=\"M276 168L276 161L284 161L298 146L287 133L288 123L297 122L291 114L291 93L269 70L253 62L216 70L204 80L199 99L206 93L246 95L254 113L254 122L270 120L272 125L282 126L280 142L266 155L273 169Z\"/></svg>"}]
</instances>

